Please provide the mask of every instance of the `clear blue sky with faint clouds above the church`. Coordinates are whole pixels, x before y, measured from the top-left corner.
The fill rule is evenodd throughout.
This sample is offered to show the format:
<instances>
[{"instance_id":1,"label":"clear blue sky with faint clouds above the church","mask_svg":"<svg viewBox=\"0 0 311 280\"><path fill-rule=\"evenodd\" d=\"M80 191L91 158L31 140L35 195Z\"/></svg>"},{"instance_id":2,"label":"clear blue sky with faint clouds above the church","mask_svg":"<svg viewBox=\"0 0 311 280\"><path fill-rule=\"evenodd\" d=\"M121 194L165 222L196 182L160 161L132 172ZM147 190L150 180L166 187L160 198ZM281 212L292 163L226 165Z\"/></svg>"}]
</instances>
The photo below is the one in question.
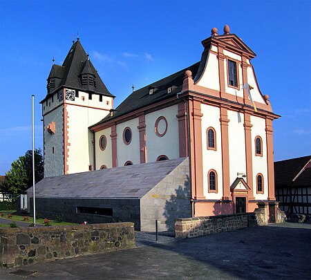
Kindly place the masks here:
<instances>
[{"instance_id":1,"label":"clear blue sky with faint clouds above the church","mask_svg":"<svg viewBox=\"0 0 311 280\"><path fill-rule=\"evenodd\" d=\"M0 0L0 175L43 147L41 105L53 64L73 39L90 55L115 107L132 91L200 61L201 41L228 24L274 113L274 160L311 154L311 1Z\"/></svg>"}]
</instances>

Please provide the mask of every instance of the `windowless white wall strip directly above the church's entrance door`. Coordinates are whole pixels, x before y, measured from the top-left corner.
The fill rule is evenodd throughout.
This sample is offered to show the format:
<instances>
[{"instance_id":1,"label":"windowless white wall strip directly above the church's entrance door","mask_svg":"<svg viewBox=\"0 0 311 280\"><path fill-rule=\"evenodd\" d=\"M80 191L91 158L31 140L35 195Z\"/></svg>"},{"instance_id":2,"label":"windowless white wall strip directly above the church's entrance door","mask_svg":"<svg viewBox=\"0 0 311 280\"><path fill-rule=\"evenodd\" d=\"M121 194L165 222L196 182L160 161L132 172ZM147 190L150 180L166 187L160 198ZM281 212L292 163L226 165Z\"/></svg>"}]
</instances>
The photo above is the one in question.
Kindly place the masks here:
<instances>
[{"instance_id":1,"label":"windowless white wall strip directly above the church's entrance door","mask_svg":"<svg viewBox=\"0 0 311 280\"><path fill-rule=\"evenodd\" d=\"M244 114L228 110L228 118L229 173L232 185L238 172L246 174Z\"/></svg>"}]
</instances>

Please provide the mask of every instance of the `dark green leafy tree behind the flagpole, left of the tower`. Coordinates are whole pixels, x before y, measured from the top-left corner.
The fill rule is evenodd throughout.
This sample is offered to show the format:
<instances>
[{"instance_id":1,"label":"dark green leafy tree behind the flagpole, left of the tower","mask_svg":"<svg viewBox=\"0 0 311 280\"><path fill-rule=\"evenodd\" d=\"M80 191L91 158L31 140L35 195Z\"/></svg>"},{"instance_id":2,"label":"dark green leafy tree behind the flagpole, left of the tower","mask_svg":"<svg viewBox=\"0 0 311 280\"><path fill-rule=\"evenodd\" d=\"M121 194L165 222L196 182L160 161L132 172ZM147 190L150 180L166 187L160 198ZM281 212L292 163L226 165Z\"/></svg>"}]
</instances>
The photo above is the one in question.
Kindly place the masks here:
<instances>
[{"instance_id":1,"label":"dark green leafy tree behind the flagpole, left of the tower","mask_svg":"<svg viewBox=\"0 0 311 280\"><path fill-rule=\"evenodd\" d=\"M35 183L44 178L44 161L41 149L35 149ZM4 187L18 196L26 189L32 187L32 151L26 151L25 156L20 156L11 164L11 169L6 173Z\"/></svg>"}]
</instances>

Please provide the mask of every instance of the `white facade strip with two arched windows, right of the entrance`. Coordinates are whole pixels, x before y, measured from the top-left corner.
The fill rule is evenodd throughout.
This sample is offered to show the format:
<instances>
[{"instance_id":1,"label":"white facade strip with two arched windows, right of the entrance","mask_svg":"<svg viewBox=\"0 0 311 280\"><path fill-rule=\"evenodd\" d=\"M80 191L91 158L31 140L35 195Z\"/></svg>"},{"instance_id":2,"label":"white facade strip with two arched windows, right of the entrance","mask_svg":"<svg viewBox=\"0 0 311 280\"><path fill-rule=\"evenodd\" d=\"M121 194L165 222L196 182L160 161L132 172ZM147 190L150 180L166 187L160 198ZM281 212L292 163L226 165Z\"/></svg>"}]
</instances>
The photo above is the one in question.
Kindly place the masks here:
<instances>
[{"instance_id":1,"label":"white facade strip with two arched windows, right of the entrance","mask_svg":"<svg viewBox=\"0 0 311 280\"><path fill-rule=\"evenodd\" d=\"M267 185L267 141L265 136L265 119L251 115L252 127L252 159L253 159L253 189L254 197L258 200L265 200L268 196ZM255 156L255 138L260 136L263 140L263 156ZM263 174L263 194L256 194L256 175Z\"/></svg>"}]
</instances>

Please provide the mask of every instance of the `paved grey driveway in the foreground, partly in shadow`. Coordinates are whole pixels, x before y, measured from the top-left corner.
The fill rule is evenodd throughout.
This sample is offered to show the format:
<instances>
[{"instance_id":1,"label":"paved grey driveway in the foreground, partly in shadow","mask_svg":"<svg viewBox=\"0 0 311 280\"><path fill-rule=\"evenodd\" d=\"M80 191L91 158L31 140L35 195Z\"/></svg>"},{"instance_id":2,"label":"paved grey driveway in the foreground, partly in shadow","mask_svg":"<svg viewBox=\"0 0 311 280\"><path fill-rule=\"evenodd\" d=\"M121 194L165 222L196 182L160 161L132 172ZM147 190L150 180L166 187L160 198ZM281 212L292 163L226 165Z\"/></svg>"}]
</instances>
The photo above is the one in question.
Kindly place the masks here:
<instances>
[{"instance_id":1,"label":"paved grey driveway in the foreground, partly in shadow","mask_svg":"<svg viewBox=\"0 0 311 280\"><path fill-rule=\"evenodd\" d=\"M132 250L0 270L0 279L310 279L311 225L249 227L196 239L140 234ZM19 276L20 275L20 276ZM27 278L28 278L27 277Z\"/></svg>"}]
</instances>

